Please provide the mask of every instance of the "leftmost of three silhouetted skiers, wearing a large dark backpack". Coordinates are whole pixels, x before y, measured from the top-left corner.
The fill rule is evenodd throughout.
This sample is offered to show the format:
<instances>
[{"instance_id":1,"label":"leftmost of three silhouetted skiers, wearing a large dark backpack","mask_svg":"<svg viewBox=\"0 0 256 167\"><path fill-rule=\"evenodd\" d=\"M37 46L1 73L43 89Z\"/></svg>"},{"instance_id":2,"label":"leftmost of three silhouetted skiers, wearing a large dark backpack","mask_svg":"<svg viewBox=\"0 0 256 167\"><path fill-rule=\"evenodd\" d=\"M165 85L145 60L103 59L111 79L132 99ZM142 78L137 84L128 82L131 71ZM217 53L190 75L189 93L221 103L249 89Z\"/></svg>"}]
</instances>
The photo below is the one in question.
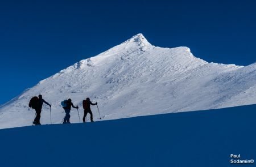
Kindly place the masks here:
<instances>
[{"instance_id":1,"label":"leftmost of three silhouetted skiers, wearing a large dark backpack","mask_svg":"<svg viewBox=\"0 0 256 167\"><path fill-rule=\"evenodd\" d=\"M49 107L51 108L51 105L43 99L42 95L38 95L38 97L36 96L32 97L32 99L30 100L30 103L28 106L32 109L35 109L35 112L36 112L36 117L33 122L34 125L41 125L40 118L41 118L43 103L49 105Z\"/></svg>"}]
</instances>

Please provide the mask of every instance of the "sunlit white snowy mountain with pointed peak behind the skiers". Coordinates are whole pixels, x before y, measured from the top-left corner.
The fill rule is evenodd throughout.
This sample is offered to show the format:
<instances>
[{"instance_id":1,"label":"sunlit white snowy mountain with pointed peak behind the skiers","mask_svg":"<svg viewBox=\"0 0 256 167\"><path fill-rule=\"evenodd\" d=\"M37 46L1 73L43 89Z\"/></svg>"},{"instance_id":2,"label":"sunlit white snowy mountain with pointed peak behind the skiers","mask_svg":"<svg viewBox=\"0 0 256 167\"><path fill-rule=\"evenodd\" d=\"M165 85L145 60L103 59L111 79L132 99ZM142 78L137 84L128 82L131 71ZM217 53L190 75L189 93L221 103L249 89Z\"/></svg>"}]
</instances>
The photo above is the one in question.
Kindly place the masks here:
<instances>
[{"instance_id":1,"label":"sunlit white snowy mountain with pointed peak behind the skiers","mask_svg":"<svg viewBox=\"0 0 256 167\"><path fill-rule=\"evenodd\" d=\"M98 102L102 120L226 108L256 103L256 63L243 67L208 63L187 47L160 48L138 34L95 57L42 80L0 108L0 128L31 125L33 96L52 104L53 123L64 117L60 102ZM92 106L95 121L97 107ZM72 110L71 121L79 122ZM44 106L42 121L49 123Z\"/></svg>"}]
</instances>

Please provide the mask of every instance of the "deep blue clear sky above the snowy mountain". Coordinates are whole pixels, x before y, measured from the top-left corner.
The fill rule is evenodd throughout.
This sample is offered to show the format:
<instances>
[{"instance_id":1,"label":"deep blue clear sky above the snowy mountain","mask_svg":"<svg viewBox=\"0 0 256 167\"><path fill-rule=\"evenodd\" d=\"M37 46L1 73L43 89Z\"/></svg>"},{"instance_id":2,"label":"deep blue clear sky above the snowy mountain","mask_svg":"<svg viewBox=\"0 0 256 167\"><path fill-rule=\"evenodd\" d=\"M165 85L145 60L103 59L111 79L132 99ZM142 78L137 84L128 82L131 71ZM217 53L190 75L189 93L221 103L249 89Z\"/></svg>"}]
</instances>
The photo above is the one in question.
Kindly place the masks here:
<instances>
[{"instance_id":1,"label":"deep blue clear sky above the snowy mountain","mask_svg":"<svg viewBox=\"0 0 256 167\"><path fill-rule=\"evenodd\" d=\"M255 62L254 1L1 1L0 104L137 33L208 62Z\"/></svg>"}]
</instances>

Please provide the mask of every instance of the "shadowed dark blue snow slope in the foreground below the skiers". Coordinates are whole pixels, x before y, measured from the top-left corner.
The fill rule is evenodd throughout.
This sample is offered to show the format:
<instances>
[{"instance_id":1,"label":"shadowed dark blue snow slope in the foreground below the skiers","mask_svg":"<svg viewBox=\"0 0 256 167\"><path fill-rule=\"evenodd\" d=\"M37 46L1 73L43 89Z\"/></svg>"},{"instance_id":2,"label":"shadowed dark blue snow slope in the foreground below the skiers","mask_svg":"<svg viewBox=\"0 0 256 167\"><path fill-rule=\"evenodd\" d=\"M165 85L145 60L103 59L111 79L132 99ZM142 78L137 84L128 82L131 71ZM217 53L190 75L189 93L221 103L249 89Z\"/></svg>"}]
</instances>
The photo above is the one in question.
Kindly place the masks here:
<instances>
[{"instance_id":1,"label":"shadowed dark blue snow slope in the foreground below the skiers","mask_svg":"<svg viewBox=\"0 0 256 167\"><path fill-rule=\"evenodd\" d=\"M241 160L255 160L255 110L256 105L249 105L86 124L3 129L0 164L236 166L229 162L232 153L241 154Z\"/></svg>"}]
</instances>

